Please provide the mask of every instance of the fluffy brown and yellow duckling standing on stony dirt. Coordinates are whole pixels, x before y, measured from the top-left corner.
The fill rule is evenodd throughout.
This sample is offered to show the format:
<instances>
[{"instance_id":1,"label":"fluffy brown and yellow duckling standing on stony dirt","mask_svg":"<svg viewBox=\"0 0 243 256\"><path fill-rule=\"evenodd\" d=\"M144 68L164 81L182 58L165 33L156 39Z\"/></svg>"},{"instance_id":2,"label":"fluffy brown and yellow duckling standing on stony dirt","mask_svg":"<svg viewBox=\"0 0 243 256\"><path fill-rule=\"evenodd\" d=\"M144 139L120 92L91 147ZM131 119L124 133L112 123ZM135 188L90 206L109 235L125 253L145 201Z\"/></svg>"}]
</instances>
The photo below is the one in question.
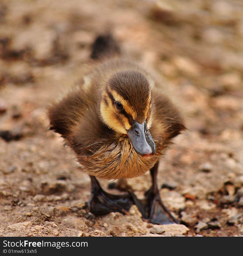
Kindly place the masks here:
<instances>
[{"instance_id":1,"label":"fluffy brown and yellow duckling standing on stony dirt","mask_svg":"<svg viewBox=\"0 0 243 256\"><path fill-rule=\"evenodd\" d=\"M155 78L121 56L111 35L96 38L91 59L94 65L78 86L48 109L51 129L65 138L91 178L89 211L126 214L136 204L151 223L178 223L160 198L157 172L171 139L185 129L179 110ZM133 178L148 170L152 186L143 200L131 189L109 194L96 179Z\"/></svg>"}]
</instances>

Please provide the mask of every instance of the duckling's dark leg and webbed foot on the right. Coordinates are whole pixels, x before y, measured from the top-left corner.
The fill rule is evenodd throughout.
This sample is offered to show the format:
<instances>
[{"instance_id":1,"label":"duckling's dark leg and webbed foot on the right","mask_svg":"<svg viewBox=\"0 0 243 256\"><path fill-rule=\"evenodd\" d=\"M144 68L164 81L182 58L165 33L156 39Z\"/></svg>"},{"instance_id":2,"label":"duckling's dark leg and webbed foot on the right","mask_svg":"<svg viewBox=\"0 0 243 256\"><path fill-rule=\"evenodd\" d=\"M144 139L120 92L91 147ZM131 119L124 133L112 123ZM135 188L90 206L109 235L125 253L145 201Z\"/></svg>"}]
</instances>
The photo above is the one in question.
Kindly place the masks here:
<instances>
[{"instance_id":1,"label":"duckling's dark leg and webbed foot on the right","mask_svg":"<svg viewBox=\"0 0 243 256\"><path fill-rule=\"evenodd\" d=\"M142 213L142 217L148 219L150 223L153 224L171 224L179 223L170 211L163 204L159 189L157 186L157 173L158 173L159 161L155 163L154 167L150 169L150 174L152 177L152 186L145 193L145 199L138 200L133 198L138 209ZM136 201L135 201L136 200Z\"/></svg>"}]
</instances>

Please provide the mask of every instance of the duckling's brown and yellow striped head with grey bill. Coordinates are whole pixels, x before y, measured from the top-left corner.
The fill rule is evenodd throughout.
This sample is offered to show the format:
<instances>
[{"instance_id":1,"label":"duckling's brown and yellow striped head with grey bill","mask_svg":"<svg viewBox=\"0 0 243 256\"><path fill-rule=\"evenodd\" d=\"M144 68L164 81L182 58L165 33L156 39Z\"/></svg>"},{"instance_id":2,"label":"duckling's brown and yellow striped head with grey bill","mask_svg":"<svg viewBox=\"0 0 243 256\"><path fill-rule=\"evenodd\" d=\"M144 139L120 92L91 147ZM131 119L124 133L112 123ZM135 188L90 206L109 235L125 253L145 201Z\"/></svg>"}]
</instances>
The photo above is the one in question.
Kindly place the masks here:
<instances>
[{"instance_id":1,"label":"duckling's brown and yellow striped head with grey bill","mask_svg":"<svg viewBox=\"0 0 243 256\"><path fill-rule=\"evenodd\" d=\"M138 154L147 158L154 155L155 143L149 133L153 114L151 87L142 73L112 74L102 92L100 113L109 128L128 135Z\"/></svg>"}]
</instances>

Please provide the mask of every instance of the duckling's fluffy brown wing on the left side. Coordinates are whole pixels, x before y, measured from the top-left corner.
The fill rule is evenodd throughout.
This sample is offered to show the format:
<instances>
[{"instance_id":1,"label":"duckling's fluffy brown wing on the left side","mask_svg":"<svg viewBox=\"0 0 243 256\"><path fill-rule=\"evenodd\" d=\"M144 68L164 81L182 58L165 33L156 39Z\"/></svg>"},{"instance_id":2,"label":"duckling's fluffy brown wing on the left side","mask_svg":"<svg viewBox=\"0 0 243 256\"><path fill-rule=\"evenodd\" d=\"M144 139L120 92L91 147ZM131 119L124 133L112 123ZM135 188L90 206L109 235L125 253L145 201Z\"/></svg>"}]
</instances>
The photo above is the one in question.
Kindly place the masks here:
<instances>
[{"instance_id":1,"label":"duckling's fluffy brown wing on the left side","mask_svg":"<svg viewBox=\"0 0 243 256\"><path fill-rule=\"evenodd\" d=\"M113 131L101 122L96 102L80 86L48 109L51 130L67 139L78 154L81 148L112 142Z\"/></svg>"}]
</instances>

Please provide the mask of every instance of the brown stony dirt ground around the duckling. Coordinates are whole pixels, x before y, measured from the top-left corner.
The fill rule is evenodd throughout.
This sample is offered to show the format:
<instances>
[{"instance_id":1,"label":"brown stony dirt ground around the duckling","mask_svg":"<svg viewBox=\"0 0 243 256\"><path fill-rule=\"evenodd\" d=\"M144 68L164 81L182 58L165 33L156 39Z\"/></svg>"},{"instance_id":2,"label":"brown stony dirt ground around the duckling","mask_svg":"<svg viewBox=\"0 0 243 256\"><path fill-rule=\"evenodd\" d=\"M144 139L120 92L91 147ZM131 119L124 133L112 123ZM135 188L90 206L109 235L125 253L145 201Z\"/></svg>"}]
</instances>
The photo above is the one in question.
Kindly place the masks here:
<instances>
[{"instance_id":1,"label":"brown stony dirt ground around the duckling","mask_svg":"<svg viewBox=\"0 0 243 256\"><path fill-rule=\"evenodd\" d=\"M185 116L158 177L181 225L147 223L135 206L94 218L88 175L48 131L45 107L106 31L163 76ZM243 236L242 41L241 0L1 1L0 236ZM150 182L128 180L138 197Z\"/></svg>"}]
</instances>

